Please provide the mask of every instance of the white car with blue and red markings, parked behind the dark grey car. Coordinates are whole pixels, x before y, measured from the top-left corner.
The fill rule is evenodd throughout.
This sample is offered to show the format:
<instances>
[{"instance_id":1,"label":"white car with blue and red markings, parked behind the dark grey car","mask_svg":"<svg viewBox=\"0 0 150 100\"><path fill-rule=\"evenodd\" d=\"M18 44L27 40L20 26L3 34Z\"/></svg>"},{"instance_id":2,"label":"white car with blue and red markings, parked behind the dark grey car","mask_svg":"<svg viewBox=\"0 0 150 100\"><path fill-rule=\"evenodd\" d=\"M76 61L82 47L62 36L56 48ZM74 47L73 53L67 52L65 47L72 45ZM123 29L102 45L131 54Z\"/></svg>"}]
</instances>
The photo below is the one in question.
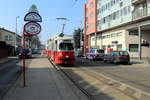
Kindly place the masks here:
<instances>
[{"instance_id":1,"label":"white car with blue and red markings, parked behind the dark grey car","mask_svg":"<svg viewBox=\"0 0 150 100\"><path fill-rule=\"evenodd\" d=\"M105 51L103 49L89 49L89 52L86 54L86 59L92 60L103 60Z\"/></svg>"}]
</instances>

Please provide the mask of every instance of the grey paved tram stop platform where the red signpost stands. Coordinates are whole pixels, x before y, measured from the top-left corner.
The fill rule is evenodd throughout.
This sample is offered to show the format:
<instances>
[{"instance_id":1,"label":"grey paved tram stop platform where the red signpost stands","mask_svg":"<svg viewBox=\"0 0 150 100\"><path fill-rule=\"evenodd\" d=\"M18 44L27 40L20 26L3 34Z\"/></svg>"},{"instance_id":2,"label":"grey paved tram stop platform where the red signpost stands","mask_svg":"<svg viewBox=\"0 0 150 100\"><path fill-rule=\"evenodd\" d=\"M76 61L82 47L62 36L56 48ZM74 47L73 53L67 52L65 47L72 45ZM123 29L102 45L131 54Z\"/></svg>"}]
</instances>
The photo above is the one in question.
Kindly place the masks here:
<instances>
[{"instance_id":1,"label":"grey paved tram stop platform where the red signpost stands","mask_svg":"<svg viewBox=\"0 0 150 100\"><path fill-rule=\"evenodd\" d=\"M26 62L26 87L20 76L2 100L89 100L46 57Z\"/></svg>"}]
</instances>

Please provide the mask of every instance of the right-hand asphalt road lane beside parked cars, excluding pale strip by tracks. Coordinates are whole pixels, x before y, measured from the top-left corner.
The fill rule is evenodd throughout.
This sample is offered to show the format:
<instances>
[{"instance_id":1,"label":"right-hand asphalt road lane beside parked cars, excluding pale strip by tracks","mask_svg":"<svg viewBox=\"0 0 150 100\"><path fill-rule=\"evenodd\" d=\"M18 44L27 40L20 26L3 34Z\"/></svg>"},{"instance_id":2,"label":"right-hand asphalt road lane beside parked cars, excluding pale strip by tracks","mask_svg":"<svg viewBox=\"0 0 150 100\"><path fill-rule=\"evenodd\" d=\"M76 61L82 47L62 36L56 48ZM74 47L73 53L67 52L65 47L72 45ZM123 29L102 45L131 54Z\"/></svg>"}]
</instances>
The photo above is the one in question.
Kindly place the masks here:
<instances>
[{"instance_id":1,"label":"right-hand asphalt road lane beside parked cars, excluding pale strip by tracks","mask_svg":"<svg viewBox=\"0 0 150 100\"><path fill-rule=\"evenodd\" d=\"M76 58L76 64L88 68L91 72L103 74L114 80L128 84L136 89L150 93L150 67L135 65L114 65L102 61L91 61L84 58ZM143 65L144 66L144 65Z\"/></svg>"}]
</instances>

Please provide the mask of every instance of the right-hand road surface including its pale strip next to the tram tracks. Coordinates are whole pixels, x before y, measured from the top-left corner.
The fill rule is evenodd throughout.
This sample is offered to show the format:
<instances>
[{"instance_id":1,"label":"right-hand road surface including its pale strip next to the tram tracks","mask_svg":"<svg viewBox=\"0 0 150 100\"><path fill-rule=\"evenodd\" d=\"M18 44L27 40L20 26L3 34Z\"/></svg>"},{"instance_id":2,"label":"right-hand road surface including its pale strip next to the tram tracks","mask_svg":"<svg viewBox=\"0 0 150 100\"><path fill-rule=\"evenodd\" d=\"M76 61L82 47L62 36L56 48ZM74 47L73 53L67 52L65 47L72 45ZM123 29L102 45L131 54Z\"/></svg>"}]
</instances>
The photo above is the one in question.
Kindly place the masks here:
<instances>
[{"instance_id":1,"label":"right-hand road surface including its pale strip next to the tram tracks","mask_svg":"<svg viewBox=\"0 0 150 100\"><path fill-rule=\"evenodd\" d=\"M107 80L106 84L138 100L150 98L150 69L130 65L114 65L79 58L76 62L82 70Z\"/></svg>"}]
</instances>

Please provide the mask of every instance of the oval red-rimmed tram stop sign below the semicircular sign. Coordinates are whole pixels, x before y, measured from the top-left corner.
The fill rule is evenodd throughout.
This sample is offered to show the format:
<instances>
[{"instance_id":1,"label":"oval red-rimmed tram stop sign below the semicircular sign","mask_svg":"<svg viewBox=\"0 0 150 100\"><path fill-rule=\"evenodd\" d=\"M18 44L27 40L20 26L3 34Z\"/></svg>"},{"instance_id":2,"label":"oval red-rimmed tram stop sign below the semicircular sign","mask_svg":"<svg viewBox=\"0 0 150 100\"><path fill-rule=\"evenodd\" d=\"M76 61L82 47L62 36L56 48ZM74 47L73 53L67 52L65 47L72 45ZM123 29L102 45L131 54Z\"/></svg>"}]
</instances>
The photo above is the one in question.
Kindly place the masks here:
<instances>
[{"instance_id":1,"label":"oval red-rimmed tram stop sign below the semicircular sign","mask_svg":"<svg viewBox=\"0 0 150 100\"><path fill-rule=\"evenodd\" d=\"M41 32L41 25L36 22L28 22L24 25L25 36L35 36Z\"/></svg>"}]
</instances>

